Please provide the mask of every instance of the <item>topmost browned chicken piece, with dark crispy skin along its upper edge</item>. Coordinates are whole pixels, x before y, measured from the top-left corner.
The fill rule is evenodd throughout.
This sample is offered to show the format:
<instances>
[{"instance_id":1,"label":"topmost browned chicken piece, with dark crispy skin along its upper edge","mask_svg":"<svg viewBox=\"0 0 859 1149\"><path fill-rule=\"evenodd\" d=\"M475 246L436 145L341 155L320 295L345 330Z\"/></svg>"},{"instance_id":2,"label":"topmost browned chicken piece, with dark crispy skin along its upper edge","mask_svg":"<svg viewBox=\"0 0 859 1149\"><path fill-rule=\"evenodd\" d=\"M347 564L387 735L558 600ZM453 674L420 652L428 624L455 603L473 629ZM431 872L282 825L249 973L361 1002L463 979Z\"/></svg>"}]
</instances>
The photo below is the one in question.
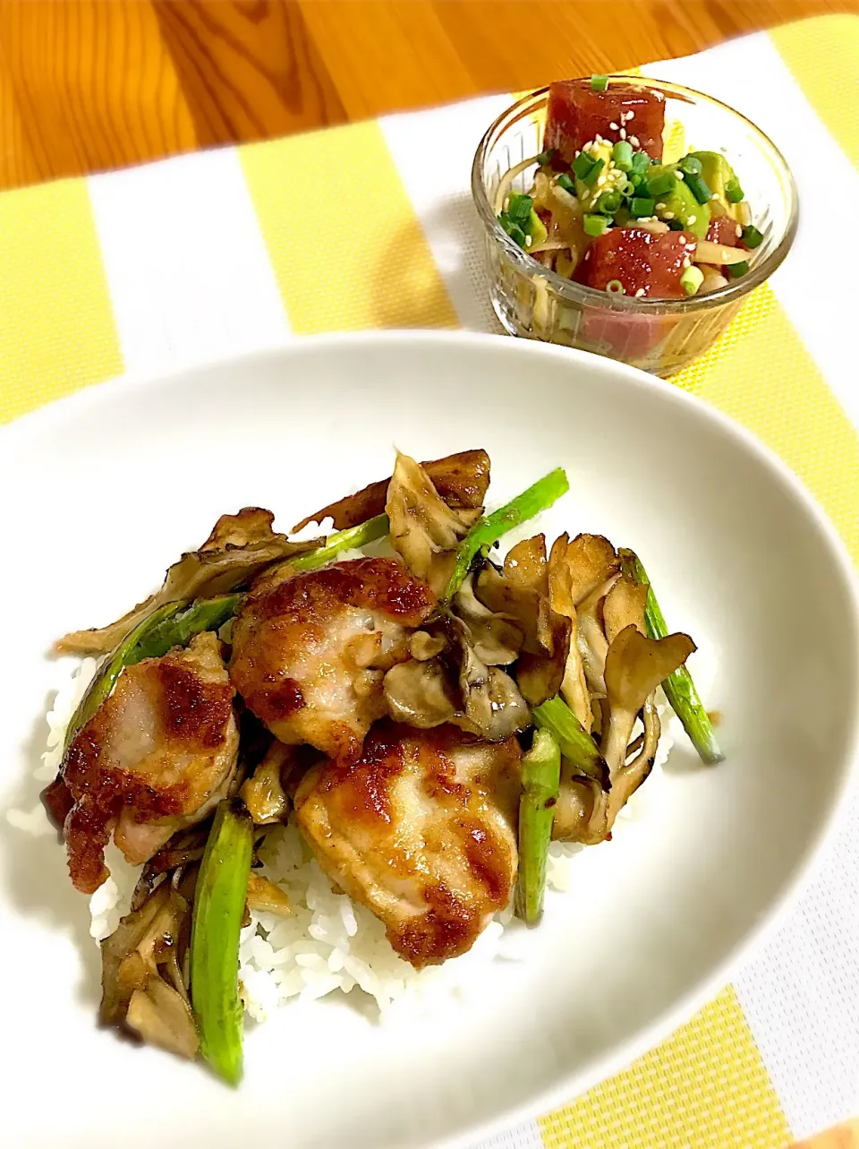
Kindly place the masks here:
<instances>
[{"instance_id":1,"label":"topmost browned chicken piece, with dark crispy skin along its upper edge","mask_svg":"<svg viewBox=\"0 0 859 1149\"><path fill-rule=\"evenodd\" d=\"M382 678L435 600L394 558L356 558L257 584L233 623L230 674L281 742L341 761L386 712Z\"/></svg>"}]
</instances>

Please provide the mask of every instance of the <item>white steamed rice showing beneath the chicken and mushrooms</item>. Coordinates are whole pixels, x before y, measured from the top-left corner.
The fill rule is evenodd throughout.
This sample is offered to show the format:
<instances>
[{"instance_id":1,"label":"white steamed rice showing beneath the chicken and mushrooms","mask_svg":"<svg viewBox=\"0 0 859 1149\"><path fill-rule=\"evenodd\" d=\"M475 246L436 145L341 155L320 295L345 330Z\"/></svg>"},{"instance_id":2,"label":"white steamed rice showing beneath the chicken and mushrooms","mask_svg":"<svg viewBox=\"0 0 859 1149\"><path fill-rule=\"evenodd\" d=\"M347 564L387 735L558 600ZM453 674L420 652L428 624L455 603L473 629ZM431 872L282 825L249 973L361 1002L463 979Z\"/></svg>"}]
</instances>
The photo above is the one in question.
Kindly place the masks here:
<instances>
[{"instance_id":1,"label":"white steamed rice showing beneath the chicken and mushrooms","mask_svg":"<svg viewBox=\"0 0 859 1149\"><path fill-rule=\"evenodd\" d=\"M48 782L56 774L65 728L95 668L95 660L85 658L56 693L47 715L47 749L36 770L40 782ZM659 707L664 717L665 709ZM621 818L637 817L640 795L644 791L652 795L673 742L666 720L653 774L627 803ZM10 810L7 817L28 833L52 832L40 803L31 811ZM552 842L547 873L550 889L570 888L575 873L574 864L571 865L573 855L583 848ZM524 927L513 918L510 907L495 915L467 954L416 971L395 954L385 927L369 910L346 894L332 890L294 825L277 827L268 835L261 859L264 863L261 872L281 886L294 912L288 918L251 915L250 925L242 931L241 996L247 1012L257 1021L264 1021L291 1000L314 1000L335 990L350 993L356 986L376 998L382 1018L402 1010L432 1009L440 995L463 992L475 976L479 979L487 963L518 956ZM127 912L139 874L139 869L130 866L113 846L106 861L110 878L90 899L90 932L96 942L113 933L121 916ZM558 900L552 901L558 904Z\"/></svg>"}]
</instances>

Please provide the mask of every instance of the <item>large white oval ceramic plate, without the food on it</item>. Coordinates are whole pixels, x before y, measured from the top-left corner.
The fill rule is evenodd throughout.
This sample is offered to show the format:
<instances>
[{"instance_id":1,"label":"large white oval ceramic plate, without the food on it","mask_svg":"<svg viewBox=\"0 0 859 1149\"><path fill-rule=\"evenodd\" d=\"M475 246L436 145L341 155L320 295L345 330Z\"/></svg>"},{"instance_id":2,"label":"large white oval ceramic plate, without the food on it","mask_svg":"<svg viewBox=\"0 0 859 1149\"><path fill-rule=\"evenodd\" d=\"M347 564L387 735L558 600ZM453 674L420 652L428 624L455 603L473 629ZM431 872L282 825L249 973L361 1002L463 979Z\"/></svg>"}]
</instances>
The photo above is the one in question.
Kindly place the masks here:
<instances>
[{"instance_id":1,"label":"large white oval ceramic plate, without the food on it","mask_svg":"<svg viewBox=\"0 0 859 1149\"><path fill-rule=\"evenodd\" d=\"M547 532L642 556L728 758L673 753L658 801L576 858L525 959L473 1001L379 1027L350 1004L287 1008L246 1039L238 1093L99 1031L86 900L53 838L0 816L0 1141L80 1149L467 1143L619 1067L727 979L806 870L857 740L857 599L820 511L750 435L668 384L535 342L373 334L169 378L110 383L0 434L5 606L0 807L30 809L44 712L72 626L161 581L223 511L281 529L418 457L485 447L497 504L563 464ZM647 791L647 787L645 787Z\"/></svg>"}]
</instances>

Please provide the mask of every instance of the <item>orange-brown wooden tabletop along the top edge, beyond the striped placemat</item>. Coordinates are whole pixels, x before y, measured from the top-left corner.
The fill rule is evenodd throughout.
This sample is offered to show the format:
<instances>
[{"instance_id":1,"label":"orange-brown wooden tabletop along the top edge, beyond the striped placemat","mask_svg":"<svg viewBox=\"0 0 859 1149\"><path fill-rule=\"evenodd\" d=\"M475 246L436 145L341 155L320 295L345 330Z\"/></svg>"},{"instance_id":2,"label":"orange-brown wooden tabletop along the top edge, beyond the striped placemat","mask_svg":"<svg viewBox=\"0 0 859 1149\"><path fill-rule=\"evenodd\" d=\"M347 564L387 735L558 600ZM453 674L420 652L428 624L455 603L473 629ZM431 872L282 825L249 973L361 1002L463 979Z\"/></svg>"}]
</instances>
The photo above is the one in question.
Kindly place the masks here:
<instances>
[{"instance_id":1,"label":"orange-brown wooden tabletop along the top edge, beyond the striped placemat","mask_svg":"<svg viewBox=\"0 0 859 1149\"><path fill-rule=\"evenodd\" d=\"M682 55L859 0L0 0L0 187Z\"/></svg>"}]
</instances>

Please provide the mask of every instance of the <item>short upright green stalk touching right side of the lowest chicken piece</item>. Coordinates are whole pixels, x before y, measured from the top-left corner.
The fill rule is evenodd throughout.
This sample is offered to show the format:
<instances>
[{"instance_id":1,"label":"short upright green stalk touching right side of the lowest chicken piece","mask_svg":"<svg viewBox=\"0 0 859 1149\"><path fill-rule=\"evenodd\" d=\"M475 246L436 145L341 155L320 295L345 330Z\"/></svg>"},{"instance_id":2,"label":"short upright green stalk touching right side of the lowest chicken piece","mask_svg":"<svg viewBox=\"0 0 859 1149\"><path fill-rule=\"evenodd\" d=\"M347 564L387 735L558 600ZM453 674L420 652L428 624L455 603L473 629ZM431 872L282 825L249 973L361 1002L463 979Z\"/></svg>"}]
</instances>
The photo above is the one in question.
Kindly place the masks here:
<instances>
[{"instance_id":1,"label":"short upright green stalk touching right side of the lowest chicken piece","mask_svg":"<svg viewBox=\"0 0 859 1149\"><path fill-rule=\"evenodd\" d=\"M516 912L535 926L543 916L545 863L560 788L560 750L548 730L534 731L532 747L523 756L521 779Z\"/></svg>"}]
</instances>

